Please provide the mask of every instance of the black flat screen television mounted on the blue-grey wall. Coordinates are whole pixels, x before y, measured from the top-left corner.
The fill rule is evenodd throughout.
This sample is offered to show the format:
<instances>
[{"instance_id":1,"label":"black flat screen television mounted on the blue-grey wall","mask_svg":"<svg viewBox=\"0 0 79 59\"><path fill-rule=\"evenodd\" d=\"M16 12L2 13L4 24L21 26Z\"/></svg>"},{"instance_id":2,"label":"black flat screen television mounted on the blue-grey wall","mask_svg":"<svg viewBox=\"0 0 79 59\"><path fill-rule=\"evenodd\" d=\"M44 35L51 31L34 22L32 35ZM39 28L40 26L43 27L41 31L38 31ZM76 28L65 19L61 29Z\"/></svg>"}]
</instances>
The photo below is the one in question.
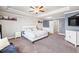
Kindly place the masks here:
<instances>
[{"instance_id":1,"label":"black flat screen television mounted on the blue-grey wall","mask_svg":"<svg viewBox=\"0 0 79 59\"><path fill-rule=\"evenodd\" d=\"M68 26L79 26L79 16L69 17Z\"/></svg>"}]
</instances>

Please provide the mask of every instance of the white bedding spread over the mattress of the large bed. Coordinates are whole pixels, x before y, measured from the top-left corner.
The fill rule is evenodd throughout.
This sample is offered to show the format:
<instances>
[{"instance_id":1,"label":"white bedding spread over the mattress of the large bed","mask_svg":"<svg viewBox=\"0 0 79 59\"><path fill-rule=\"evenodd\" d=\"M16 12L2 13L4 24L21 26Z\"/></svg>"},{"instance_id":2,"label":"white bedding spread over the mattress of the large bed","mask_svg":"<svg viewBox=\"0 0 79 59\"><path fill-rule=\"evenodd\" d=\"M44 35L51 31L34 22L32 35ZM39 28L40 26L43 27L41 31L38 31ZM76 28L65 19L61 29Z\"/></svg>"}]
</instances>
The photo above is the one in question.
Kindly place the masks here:
<instances>
[{"instance_id":1,"label":"white bedding spread over the mattress of the large bed","mask_svg":"<svg viewBox=\"0 0 79 59\"><path fill-rule=\"evenodd\" d=\"M33 31L26 30L26 31L24 31L22 36L24 36L25 38L27 38L33 42L35 40L48 36L48 32L45 30L33 30Z\"/></svg>"}]
</instances>

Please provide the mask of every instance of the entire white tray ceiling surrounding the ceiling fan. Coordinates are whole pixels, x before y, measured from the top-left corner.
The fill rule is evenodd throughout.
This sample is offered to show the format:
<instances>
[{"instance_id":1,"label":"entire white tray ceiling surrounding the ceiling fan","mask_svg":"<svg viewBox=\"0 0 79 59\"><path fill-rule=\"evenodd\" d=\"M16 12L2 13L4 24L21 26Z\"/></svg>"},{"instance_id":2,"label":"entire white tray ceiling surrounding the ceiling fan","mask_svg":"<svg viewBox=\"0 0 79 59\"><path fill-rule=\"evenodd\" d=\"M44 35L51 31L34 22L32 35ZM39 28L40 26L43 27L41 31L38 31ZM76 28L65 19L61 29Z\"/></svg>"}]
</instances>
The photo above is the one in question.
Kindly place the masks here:
<instances>
[{"instance_id":1,"label":"entire white tray ceiling surrounding the ceiling fan","mask_svg":"<svg viewBox=\"0 0 79 59\"><path fill-rule=\"evenodd\" d=\"M70 10L76 10L79 9L78 6L44 6L45 12L40 12L39 14L35 14L31 11L32 9L30 6L0 6L1 11L6 11L10 13L20 14L20 15L29 15L33 17L62 17L64 15L64 12L70 11Z\"/></svg>"}]
</instances>

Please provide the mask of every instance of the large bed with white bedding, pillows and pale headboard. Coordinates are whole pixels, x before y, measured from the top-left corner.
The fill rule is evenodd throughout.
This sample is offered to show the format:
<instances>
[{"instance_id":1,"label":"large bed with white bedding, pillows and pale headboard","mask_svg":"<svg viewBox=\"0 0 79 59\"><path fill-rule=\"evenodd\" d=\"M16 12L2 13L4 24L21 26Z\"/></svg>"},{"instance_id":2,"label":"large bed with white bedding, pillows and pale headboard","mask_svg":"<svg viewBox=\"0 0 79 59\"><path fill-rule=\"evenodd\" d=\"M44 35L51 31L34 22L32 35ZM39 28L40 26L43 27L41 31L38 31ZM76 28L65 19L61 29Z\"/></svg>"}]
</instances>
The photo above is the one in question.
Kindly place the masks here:
<instances>
[{"instance_id":1,"label":"large bed with white bedding, pillows and pale headboard","mask_svg":"<svg viewBox=\"0 0 79 59\"><path fill-rule=\"evenodd\" d=\"M46 30L37 29L35 26L25 26L23 27L22 36L31 42L35 42L39 39L47 37L48 32Z\"/></svg>"}]
</instances>

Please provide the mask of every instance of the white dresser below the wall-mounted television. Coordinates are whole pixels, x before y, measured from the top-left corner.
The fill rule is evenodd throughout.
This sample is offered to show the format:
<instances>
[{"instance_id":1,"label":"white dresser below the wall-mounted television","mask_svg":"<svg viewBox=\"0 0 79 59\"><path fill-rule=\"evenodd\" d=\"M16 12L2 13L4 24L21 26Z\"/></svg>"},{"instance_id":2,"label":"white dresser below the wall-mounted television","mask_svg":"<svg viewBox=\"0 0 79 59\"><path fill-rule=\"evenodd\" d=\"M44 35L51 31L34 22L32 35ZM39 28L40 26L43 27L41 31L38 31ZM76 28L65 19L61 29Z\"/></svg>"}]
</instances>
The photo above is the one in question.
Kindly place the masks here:
<instances>
[{"instance_id":1,"label":"white dresser below the wall-mounted television","mask_svg":"<svg viewBox=\"0 0 79 59\"><path fill-rule=\"evenodd\" d=\"M76 47L77 45L79 45L79 31L66 30L65 40L74 44Z\"/></svg>"}]
</instances>

